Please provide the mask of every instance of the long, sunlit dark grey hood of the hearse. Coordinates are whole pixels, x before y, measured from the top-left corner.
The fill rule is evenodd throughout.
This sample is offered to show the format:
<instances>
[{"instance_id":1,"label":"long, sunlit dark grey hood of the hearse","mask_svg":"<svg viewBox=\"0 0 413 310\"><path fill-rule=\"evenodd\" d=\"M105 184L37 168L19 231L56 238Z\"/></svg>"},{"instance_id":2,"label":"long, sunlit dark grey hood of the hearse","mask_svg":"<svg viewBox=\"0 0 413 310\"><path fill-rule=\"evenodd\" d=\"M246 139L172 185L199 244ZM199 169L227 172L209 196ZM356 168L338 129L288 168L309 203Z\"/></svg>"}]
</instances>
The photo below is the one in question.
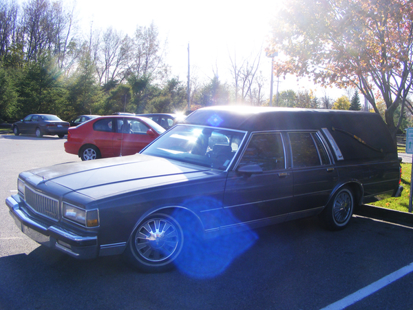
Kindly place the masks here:
<instances>
[{"instance_id":1,"label":"long, sunlit dark grey hood of the hearse","mask_svg":"<svg viewBox=\"0 0 413 310\"><path fill-rule=\"evenodd\" d=\"M92 199L99 199L218 173L220 172L205 167L136 154L64 163L23 172L21 176L41 192L56 189L59 196L78 192ZM50 194L58 194L56 192Z\"/></svg>"}]
</instances>

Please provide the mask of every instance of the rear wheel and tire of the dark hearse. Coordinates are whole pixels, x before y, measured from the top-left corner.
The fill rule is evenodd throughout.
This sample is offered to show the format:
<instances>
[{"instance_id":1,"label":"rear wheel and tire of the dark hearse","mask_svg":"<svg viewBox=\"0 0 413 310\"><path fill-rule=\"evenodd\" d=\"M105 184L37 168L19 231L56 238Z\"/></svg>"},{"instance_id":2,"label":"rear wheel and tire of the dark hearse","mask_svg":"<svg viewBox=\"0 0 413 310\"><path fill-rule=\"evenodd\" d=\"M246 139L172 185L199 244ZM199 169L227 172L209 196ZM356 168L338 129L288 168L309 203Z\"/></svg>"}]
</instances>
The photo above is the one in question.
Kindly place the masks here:
<instances>
[{"instance_id":1,"label":"rear wheel and tire of the dark hearse","mask_svg":"<svg viewBox=\"0 0 413 310\"><path fill-rule=\"evenodd\" d=\"M321 212L323 225L330 230L341 230L347 227L354 211L354 197L348 187L343 187L332 197Z\"/></svg>"}]
</instances>

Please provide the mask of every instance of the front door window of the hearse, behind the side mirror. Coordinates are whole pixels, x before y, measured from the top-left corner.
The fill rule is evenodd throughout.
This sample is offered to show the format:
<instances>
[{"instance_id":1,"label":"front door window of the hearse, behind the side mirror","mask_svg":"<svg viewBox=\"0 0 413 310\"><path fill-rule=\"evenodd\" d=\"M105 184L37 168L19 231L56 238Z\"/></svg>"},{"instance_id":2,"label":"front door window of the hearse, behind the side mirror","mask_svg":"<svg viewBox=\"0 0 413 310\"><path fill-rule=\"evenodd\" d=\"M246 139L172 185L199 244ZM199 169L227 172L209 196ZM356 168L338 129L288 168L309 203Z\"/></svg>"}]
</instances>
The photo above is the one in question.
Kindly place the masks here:
<instances>
[{"instance_id":1,"label":"front door window of the hearse, behind the side mirror","mask_svg":"<svg viewBox=\"0 0 413 310\"><path fill-rule=\"evenodd\" d=\"M253 134L240 161L240 167L246 165L259 165L263 171L285 169L281 134Z\"/></svg>"}]
</instances>

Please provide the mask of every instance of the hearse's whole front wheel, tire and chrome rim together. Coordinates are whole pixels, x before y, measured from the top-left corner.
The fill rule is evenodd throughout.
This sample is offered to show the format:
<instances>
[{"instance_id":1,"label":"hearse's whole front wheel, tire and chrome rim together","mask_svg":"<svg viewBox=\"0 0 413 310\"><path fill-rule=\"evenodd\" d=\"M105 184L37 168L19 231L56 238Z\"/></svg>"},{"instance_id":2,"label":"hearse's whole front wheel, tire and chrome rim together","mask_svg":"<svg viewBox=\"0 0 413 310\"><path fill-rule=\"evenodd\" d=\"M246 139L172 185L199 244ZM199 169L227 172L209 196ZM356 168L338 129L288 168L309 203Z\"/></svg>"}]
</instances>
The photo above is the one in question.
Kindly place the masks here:
<instances>
[{"instance_id":1,"label":"hearse's whole front wheel, tire and chrome rim together","mask_svg":"<svg viewBox=\"0 0 413 310\"><path fill-rule=\"evenodd\" d=\"M183 244L184 231L180 223L168 214L153 214L136 227L125 256L140 271L169 271Z\"/></svg>"}]
</instances>

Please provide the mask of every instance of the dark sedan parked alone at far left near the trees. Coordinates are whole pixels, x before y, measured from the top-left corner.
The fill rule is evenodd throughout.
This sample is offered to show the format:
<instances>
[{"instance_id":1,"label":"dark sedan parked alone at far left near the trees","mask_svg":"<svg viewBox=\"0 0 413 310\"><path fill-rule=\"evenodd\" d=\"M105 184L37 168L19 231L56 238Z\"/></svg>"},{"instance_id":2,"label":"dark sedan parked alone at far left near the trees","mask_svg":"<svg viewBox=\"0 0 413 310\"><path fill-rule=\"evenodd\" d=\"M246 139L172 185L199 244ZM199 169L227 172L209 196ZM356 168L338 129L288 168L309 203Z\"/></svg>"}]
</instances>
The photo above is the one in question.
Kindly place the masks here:
<instances>
[{"instance_id":1,"label":"dark sedan parked alone at far left near the trees","mask_svg":"<svg viewBox=\"0 0 413 310\"><path fill-rule=\"evenodd\" d=\"M38 138L45 134L57 135L59 138L63 138L69 127L69 123L52 114L30 114L12 125L16 136L19 136L19 134L36 134Z\"/></svg>"}]
</instances>

